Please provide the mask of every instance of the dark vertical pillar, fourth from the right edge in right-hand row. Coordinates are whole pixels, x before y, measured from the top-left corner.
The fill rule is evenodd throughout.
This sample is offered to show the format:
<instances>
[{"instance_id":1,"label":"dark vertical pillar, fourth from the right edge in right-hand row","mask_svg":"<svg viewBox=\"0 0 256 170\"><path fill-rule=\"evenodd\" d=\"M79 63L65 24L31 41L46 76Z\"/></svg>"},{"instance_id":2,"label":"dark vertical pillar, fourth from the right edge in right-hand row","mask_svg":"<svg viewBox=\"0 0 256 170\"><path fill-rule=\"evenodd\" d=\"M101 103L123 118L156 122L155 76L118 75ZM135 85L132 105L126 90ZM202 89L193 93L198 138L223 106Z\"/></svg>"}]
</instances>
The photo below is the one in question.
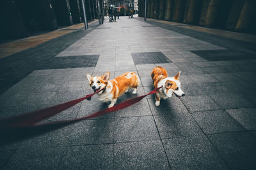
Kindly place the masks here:
<instances>
[{"instance_id":1,"label":"dark vertical pillar, fourth from the right edge in right-hand row","mask_svg":"<svg viewBox=\"0 0 256 170\"><path fill-rule=\"evenodd\" d=\"M197 24L202 10L202 0L186 0L183 22Z\"/></svg>"}]
</instances>

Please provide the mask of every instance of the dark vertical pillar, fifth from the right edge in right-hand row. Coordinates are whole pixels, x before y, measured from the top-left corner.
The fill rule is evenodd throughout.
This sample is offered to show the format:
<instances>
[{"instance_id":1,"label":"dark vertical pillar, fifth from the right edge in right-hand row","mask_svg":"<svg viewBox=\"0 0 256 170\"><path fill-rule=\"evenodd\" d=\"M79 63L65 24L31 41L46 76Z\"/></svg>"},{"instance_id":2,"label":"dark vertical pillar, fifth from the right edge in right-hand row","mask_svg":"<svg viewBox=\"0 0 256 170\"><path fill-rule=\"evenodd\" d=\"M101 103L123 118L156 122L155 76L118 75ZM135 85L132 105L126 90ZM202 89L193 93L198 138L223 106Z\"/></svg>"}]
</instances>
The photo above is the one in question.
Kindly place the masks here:
<instances>
[{"instance_id":1,"label":"dark vertical pillar, fifth from the right edge in right-hand row","mask_svg":"<svg viewBox=\"0 0 256 170\"><path fill-rule=\"evenodd\" d=\"M172 20L175 22L182 22L184 16L186 0L175 0L173 7L173 17Z\"/></svg>"}]
</instances>

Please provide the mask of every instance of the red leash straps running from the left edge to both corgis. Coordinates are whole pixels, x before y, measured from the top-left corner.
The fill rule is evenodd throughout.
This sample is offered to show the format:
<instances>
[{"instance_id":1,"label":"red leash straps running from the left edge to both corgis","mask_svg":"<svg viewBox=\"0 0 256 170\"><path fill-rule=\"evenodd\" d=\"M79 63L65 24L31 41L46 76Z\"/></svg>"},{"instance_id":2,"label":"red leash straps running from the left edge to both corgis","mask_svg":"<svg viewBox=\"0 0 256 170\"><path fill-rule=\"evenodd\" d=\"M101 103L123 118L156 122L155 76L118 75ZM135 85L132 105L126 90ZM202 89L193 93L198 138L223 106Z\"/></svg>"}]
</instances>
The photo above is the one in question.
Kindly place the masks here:
<instances>
[{"instance_id":1,"label":"red leash straps running from the left edge to both corgis","mask_svg":"<svg viewBox=\"0 0 256 170\"><path fill-rule=\"evenodd\" d=\"M106 113L122 110L128 106L131 106L132 104L138 103L144 97L146 97L150 94L155 94L159 89L161 89L161 87L154 89L151 92L149 92L148 94L145 94L143 96L138 96L138 97L134 97L132 99L128 99L127 101L124 101L123 103L116 104L115 106L113 106L111 108L107 108L102 111L97 111L97 112L92 113L91 115L87 115L85 117L75 118L75 119L71 119L71 120L63 120L63 121L44 123L44 124L36 124L36 123L44 120L45 118L52 117L53 115L56 115L57 113L60 113L63 110L67 110L67 108L74 106L75 104L83 101L84 99L90 100L94 94L97 94L98 92L101 91L101 90L98 90L97 92L87 95L85 97L82 97L80 99L68 101L63 104L58 104L56 106L44 108L42 110L24 113L22 115L15 116L15 117L4 118L3 120L0 120L0 131L6 132L6 131L17 130L20 128L22 129L22 128L31 128L31 127L45 127L45 126L52 126L52 125L63 126L63 125L73 124L73 123L79 122L81 120L86 120L88 118L100 117L101 115L104 115Z\"/></svg>"}]
</instances>

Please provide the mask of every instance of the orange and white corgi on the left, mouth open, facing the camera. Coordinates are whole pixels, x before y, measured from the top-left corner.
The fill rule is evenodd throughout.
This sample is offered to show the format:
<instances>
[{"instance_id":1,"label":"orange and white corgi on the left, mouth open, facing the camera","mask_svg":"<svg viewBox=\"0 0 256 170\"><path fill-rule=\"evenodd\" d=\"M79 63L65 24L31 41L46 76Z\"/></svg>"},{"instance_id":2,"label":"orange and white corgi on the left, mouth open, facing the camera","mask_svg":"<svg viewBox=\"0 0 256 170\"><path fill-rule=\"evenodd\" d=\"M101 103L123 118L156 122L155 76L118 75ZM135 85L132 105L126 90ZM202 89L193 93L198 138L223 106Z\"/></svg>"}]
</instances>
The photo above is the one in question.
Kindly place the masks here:
<instances>
[{"instance_id":1,"label":"orange and white corgi on the left, mouth open, facing the camera","mask_svg":"<svg viewBox=\"0 0 256 170\"><path fill-rule=\"evenodd\" d=\"M128 92L130 88L134 89L132 94L136 94L137 87L140 83L139 76L136 73L127 72L110 81L109 76L109 71L104 73L102 76L93 77L90 74L86 74L89 85L92 87L94 92L104 89L97 94L100 101L111 101L108 108L113 107L117 98L125 92Z\"/></svg>"}]
</instances>

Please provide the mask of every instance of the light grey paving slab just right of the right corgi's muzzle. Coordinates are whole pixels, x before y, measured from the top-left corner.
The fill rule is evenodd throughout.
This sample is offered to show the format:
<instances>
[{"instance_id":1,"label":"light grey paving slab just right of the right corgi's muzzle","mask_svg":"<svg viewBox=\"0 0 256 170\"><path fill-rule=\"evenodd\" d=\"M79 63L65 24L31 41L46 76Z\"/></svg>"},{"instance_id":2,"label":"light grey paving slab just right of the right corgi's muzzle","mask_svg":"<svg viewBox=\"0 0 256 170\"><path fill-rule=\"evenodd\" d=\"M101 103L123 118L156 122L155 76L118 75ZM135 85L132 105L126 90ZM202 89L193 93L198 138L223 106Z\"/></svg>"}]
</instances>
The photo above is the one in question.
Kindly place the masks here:
<instances>
[{"instance_id":1,"label":"light grey paving slab just right of the right corgi's muzzle","mask_svg":"<svg viewBox=\"0 0 256 170\"><path fill-rule=\"evenodd\" d=\"M191 112L221 109L209 96L185 96L181 100Z\"/></svg>"}]
</instances>

